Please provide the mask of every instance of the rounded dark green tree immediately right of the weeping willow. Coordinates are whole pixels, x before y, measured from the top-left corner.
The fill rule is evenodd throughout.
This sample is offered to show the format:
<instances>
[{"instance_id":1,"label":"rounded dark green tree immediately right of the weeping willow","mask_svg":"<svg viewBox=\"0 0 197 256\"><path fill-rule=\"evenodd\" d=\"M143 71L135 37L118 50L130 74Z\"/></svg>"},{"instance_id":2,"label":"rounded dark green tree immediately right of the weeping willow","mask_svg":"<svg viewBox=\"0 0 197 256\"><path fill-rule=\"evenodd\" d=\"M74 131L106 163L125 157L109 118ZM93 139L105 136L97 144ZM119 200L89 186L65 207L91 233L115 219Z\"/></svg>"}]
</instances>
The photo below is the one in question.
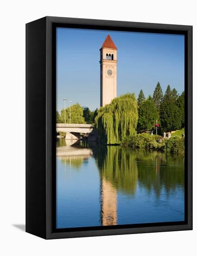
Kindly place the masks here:
<instances>
[{"instance_id":1,"label":"rounded dark green tree immediately right of the weeping willow","mask_svg":"<svg viewBox=\"0 0 197 256\"><path fill-rule=\"evenodd\" d=\"M146 101L141 103L138 113L138 130L140 132L150 131L158 119L158 111L155 107L153 99L150 96L146 99Z\"/></svg>"}]
</instances>

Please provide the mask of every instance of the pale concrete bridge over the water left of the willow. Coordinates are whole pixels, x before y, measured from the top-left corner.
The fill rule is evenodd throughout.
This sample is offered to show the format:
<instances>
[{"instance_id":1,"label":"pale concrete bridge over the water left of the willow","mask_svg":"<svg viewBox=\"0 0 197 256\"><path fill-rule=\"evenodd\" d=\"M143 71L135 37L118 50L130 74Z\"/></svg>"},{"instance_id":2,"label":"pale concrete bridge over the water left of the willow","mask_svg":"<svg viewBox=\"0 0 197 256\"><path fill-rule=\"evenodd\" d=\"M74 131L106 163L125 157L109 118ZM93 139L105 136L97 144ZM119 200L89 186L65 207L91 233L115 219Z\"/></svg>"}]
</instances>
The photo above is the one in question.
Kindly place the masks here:
<instances>
[{"instance_id":1,"label":"pale concrete bridge over the water left of the willow","mask_svg":"<svg viewBox=\"0 0 197 256\"><path fill-rule=\"evenodd\" d=\"M56 131L66 133L67 140L77 140L78 138L72 133L89 134L90 140L95 141L95 134L93 133L94 126L92 124L81 123L57 123ZM93 135L93 136L92 136Z\"/></svg>"}]
</instances>

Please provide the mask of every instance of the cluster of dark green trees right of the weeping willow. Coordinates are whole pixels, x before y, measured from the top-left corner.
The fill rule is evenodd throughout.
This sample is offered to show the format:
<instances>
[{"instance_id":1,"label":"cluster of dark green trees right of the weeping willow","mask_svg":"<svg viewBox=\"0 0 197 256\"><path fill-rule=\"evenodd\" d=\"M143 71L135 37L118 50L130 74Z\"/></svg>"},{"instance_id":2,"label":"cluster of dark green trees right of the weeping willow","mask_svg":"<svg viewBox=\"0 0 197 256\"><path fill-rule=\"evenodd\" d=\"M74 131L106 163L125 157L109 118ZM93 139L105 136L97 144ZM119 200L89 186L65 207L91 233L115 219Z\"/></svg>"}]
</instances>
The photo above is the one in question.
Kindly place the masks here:
<instances>
[{"instance_id":1,"label":"cluster of dark green trees right of the weeping willow","mask_svg":"<svg viewBox=\"0 0 197 256\"><path fill-rule=\"evenodd\" d=\"M167 86L163 95L160 83L153 92L153 97L146 99L142 90L138 95L138 132L155 129L156 120L159 133L171 132L184 128L184 91L178 94L175 88Z\"/></svg>"}]
</instances>

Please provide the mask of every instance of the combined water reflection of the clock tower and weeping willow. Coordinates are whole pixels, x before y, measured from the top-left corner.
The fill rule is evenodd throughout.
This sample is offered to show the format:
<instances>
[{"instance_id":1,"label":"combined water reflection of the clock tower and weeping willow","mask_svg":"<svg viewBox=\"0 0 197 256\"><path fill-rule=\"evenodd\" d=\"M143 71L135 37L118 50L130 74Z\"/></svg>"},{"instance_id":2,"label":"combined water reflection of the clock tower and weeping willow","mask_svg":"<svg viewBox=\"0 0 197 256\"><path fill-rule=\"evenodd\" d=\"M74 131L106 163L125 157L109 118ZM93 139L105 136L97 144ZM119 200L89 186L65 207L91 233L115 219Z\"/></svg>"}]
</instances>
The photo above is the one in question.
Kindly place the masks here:
<instances>
[{"instance_id":1,"label":"combined water reflection of the clock tower and weeping willow","mask_svg":"<svg viewBox=\"0 0 197 256\"><path fill-rule=\"evenodd\" d=\"M117 225L117 192L135 193L138 179L136 157L117 146L96 148L94 153L101 177L101 224Z\"/></svg>"}]
</instances>

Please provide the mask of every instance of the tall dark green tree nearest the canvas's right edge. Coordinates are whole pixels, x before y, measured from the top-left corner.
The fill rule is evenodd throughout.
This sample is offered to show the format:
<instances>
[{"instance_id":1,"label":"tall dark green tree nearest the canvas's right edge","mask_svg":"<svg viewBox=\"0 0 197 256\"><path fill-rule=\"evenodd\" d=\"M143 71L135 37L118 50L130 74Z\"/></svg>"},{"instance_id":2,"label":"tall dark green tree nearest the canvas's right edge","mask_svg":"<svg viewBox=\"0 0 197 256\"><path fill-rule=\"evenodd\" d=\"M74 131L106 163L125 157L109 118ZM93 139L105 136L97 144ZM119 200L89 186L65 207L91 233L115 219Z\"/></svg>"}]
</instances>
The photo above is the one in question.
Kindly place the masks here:
<instances>
[{"instance_id":1,"label":"tall dark green tree nearest the canvas's right edge","mask_svg":"<svg viewBox=\"0 0 197 256\"><path fill-rule=\"evenodd\" d=\"M160 105L160 122L162 130L165 132L181 128L182 118L177 97L177 91L175 89L171 90L170 85L168 85Z\"/></svg>"}]
</instances>

